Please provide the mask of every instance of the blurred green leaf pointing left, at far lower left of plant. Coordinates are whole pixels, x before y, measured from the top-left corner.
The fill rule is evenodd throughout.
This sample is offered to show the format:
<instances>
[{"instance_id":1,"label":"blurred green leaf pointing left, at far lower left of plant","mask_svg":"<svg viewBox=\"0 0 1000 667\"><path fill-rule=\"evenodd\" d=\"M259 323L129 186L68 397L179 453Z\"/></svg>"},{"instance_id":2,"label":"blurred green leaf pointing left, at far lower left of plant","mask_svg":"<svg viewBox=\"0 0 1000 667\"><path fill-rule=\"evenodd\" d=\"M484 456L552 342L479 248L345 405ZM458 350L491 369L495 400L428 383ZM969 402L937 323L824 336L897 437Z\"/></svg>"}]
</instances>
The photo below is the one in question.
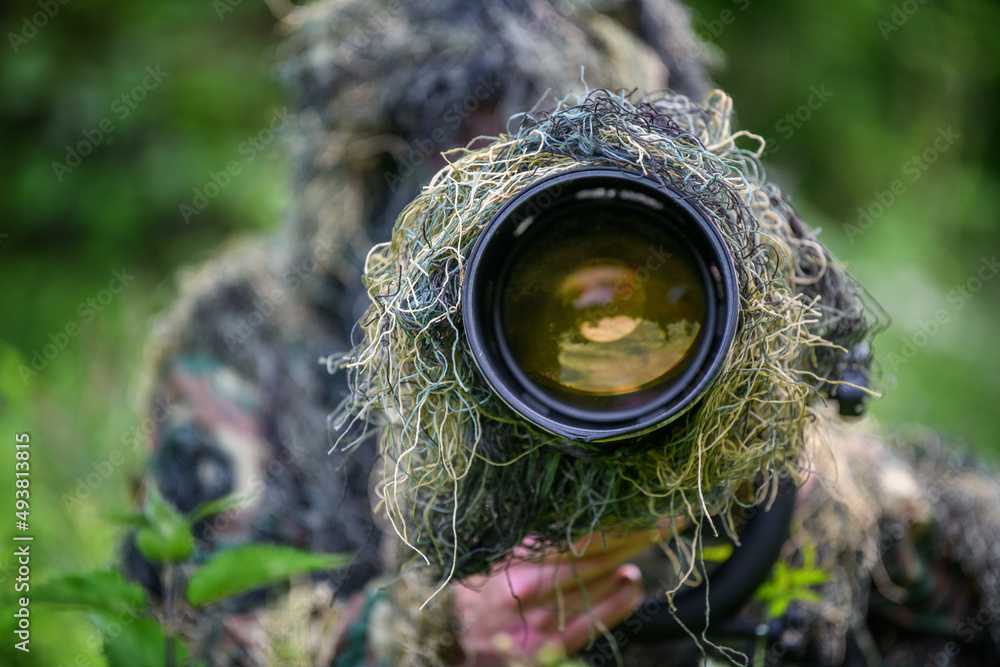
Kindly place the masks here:
<instances>
[{"instance_id":1,"label":"blurred green leaf pointing left, at far lower left of plant","mask_svg":"<svg viewBox=\"0 0 1000 667\"><path fill-rule=\"evenodd\" d=\"M69 574L32 587L33 602L71 605L94 611L121 613L146 606L142 587L125 581L120 572Z\"/></svg>"}]
</instances>

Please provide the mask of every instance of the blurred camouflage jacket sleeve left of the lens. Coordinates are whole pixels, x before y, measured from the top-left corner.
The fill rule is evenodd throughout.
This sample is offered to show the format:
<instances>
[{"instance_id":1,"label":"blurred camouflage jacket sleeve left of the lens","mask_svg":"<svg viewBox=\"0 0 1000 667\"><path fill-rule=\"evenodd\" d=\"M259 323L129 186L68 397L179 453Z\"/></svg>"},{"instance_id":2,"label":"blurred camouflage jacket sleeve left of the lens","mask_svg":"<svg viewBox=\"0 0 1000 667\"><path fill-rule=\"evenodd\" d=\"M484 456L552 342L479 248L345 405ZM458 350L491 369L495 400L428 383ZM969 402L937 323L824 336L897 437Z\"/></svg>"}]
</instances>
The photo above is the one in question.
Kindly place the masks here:
<instances>
[{"instance_id":1,"label":"blurred camouflage jacket sleeve left of the lens","mask_svg":"<svg viewBox=\"0 0 1000 667\"><path fill-rule=\"evenodd\" d=\"M281 604L273 604L279 591L267 589L212 613L188 610L184 633L210 664L269 662L262 656L282 645L269 633L304 608L323 610L309 612L306 625L323 624L326 639L315 650L332 655L355 597L382 570L368 495L374 442L351 456L330 451L327 415L346 389L319 359L343 349L344 334L305 305L295 276L270 268L274 254L248 248L210 263L187 278L161 318L148 354L144 488L184 514L216 498L238 500L194 527L192 562L256 542L350 553L354 564L305 588L299 582ZM160 568L131 537L124 562L162 597ZM269 614L277 616L264 622Z\"/></svg>"}]
</instances>

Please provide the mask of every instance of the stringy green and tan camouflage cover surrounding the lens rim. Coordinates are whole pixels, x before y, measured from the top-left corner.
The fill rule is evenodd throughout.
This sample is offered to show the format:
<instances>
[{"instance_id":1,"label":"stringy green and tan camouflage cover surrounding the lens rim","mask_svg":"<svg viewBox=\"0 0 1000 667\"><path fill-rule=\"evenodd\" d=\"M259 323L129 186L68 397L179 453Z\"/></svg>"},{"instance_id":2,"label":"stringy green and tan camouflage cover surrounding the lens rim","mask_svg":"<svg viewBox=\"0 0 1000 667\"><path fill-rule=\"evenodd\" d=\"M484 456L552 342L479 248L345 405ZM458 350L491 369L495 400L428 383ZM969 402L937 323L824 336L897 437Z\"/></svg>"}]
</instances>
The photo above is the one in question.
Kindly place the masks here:
<instances>
[{"instance_id":1,"label":"stringy green and tan camouflage cover surrounding the lens rim","mask_svg":"<svg viewBox=\"0 0 1000 667\"><path fill-rule=\"evenodd\" d=\"M340 418L385 429L385 509L441 579L487 570L528 535L539 550L568 548L590 531L676 515L721 516L716 528L731 531L736 505L766 503L780 478L804 476L813 405L878 318L765 181L756 153L737 146L761 148L732 132L731 107L720 92L696 104L598 91L512 119L488 146L447 154L392 240L369 254L372 305L341 361L353 398ZM584 166L641 172L682 193L721 232L738 278L739 324L717 380L633 446L526 423L490 389L463 332L464 266L493 215L525 187Z\"/></svg>"}]
</instances>

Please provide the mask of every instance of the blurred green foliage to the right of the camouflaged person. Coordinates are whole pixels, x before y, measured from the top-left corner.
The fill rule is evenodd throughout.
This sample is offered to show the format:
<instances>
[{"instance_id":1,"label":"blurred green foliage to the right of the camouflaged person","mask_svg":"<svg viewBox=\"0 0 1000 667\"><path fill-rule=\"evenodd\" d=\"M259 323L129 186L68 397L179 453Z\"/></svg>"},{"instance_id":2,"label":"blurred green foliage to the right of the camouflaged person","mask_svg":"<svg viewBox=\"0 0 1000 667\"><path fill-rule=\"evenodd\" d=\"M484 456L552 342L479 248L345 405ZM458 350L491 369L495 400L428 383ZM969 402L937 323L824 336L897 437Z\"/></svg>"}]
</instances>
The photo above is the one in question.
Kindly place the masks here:
<instances>
[{"instance_id":1,"label":"blurred green foliage to the right of the camouflaged person","mask_svg":"<svg viewBox=\"0 0 1000 667\"><path fill-rule=\"evenodd\" d=\"M1000 452L1000 279L984 266L1000 255L1000 6L693 8L740 127L767 139L769 177L892 316L875 347L885 398L870 412Z\"/></svg>"}]
</instances>

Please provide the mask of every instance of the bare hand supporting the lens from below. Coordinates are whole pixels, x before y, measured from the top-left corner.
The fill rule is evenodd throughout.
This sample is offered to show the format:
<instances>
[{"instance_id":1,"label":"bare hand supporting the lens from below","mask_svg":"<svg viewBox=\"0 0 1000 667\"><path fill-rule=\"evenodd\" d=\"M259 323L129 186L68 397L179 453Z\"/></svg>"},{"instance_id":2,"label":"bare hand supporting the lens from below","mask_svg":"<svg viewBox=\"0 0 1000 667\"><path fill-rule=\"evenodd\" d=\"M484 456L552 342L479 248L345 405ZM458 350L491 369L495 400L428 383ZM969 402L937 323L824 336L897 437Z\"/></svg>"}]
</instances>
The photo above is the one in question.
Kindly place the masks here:
<instances>
[{"instance_id":1,"label":"bare hand supporting the lens from below","mask_svg":"<svg viewBox=\"0 0 1000 667\"><path fill-rule=\"evenodd\" d=\"M524 560L525 548L492 574L467 579L455 603L467 664L547 664L584 648L641 604L641 573L628 561L669 534L654 529L602 539L595 533L577 543L580 556L553 553L535 561Z\"/></svg>"}]
</instances>

